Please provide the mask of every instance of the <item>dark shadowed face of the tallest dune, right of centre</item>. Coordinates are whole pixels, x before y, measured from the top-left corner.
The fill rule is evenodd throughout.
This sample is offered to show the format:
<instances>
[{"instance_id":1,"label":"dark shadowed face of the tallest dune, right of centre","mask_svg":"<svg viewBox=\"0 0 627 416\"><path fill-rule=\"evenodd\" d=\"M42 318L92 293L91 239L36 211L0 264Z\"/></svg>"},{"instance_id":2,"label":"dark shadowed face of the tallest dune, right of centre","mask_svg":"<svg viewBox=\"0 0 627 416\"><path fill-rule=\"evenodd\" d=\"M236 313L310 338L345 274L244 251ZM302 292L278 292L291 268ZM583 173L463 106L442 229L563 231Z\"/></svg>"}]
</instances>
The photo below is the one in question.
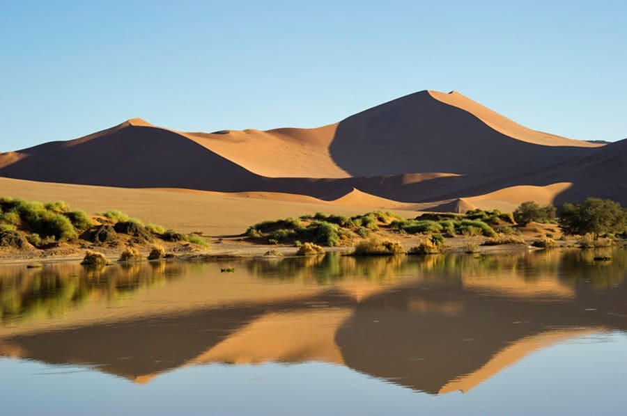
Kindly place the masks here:
<instances>
[{"instance_id":1,"label":"dark shadowed face of the tallest dune, right of centre","mask_svg":"<svg viewBox=\"0 0 627 416\"><path fill-rule=\"evenodd\" d=\"M427 91L395 99L339 123L331 145L353 176L533 170L589 154L587 147L516 140Z\"/></svg>"}]
</instances>

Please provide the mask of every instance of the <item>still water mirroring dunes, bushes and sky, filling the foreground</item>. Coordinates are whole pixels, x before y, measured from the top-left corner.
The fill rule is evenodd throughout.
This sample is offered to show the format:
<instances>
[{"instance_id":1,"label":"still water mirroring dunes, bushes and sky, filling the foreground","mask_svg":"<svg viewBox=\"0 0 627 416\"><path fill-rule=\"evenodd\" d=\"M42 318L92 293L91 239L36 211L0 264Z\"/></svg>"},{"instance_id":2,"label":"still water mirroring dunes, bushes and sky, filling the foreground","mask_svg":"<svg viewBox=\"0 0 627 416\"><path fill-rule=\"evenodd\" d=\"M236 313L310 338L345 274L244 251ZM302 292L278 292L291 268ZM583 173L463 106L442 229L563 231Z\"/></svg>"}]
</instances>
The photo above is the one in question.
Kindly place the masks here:
<instances>
[{"instance_id":1,"label":"still water mirroring dunes, bushes and sky, filling the foreground","mask_svg":"<svg viewBox=\"0 0 627 416\"><path fill-rule=\"evenodd\" d=\"M0 266L0 414L624 415L611 254Z\"/></svg>"}]
</instances>

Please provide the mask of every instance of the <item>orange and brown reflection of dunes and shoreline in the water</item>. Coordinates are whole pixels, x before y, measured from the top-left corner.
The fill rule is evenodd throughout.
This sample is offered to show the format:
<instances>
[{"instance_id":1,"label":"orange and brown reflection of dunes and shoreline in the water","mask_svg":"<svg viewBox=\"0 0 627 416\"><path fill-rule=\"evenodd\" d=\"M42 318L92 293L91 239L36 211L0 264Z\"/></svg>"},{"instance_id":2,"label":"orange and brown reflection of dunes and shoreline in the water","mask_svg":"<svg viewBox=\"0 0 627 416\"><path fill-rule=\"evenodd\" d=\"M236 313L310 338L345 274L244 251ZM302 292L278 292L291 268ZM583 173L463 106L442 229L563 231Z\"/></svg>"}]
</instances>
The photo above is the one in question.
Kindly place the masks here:
<instances>
[{"instance_id":1,"label":"orange and brown reflection of dunes and shoreline in the water","mask_svg":"<svg viewBox=\"0 0 627 416\"><path fill-rule=\"evenodd\" d=\"M98 363L136 383L196 363L323 361L432 394L467 391L538 349L625 329L615 314L627 312L624 285L582 283L601 271L624 276L624 254L610 264L588 257L249 259L228 276L220 263L21 269L0 281L7 293L31 296L49 272L53 288L74 282L91 297L63 319L0 328L0 355ZM56 291L68 293L77 292ZM131 296L112 308L111 293ZM591 306L598 311L582 313Z\"/></svg>"}]
</instances>

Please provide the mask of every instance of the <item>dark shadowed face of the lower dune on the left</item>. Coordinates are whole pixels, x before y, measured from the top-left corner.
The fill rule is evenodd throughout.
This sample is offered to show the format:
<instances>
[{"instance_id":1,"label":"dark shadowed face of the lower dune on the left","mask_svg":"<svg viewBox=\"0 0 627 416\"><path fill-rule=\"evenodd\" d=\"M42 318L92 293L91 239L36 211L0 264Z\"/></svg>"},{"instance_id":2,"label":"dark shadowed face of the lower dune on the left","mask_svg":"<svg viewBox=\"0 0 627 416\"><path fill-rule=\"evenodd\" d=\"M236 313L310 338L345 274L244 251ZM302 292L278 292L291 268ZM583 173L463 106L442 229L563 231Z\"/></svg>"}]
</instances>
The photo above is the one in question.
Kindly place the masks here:
<instances>
[{"instance_id":1,"label":"dark shadowed face of the lower dune on the left","mask_svg":"<svg viewBox=\"0 0 627 416\"><path fill-rule=\"evenodd\" d=\"M256 175L171 131L130 125L103 133L31 147L24 150L28 157L6 166L2 174L123 187L256 187L248 185L258 180Z\"/></svg>"}]
</instances>

